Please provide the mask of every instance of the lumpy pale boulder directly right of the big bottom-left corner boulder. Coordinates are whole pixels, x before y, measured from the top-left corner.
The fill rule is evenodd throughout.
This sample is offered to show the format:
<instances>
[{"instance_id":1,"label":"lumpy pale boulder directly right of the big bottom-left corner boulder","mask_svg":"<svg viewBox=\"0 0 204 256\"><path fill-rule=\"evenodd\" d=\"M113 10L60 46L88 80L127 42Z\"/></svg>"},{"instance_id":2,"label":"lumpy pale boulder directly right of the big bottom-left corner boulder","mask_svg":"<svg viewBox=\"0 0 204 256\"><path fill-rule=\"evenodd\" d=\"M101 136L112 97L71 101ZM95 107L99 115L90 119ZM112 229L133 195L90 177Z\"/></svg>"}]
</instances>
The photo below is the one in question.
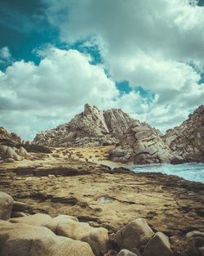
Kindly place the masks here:
<instances>
[{"instance_id":1,"label":"lumpy pale boulder directly right of the big bottom-left corner boulder","mask_svg":"<svg viewBox=\"0 0 204 256\"><path fill-rule=\"evenodd\" d=\"M52 218L45 226L56 235L88 243L96 256L105 254L109 250L109 234L105 228L91 227L86 222L78 222L78 219L66 215Z\"/></svg>"}]
</instances>

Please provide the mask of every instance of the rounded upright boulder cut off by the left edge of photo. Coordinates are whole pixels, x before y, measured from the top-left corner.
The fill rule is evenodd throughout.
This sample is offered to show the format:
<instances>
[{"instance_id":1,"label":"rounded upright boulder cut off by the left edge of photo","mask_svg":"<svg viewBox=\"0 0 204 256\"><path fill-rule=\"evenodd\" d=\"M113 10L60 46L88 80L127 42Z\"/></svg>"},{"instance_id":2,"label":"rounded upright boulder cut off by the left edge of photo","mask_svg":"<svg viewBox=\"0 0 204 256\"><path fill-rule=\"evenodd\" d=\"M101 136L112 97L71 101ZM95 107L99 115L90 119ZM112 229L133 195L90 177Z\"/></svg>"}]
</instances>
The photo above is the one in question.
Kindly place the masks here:
<instances>
[{"instance_id":1,"label":"rounded upright boulder cut off by the left edge of photo","mask_svg":"<svg viewBox=\"0 0 204 256\"><path fill-rule=\"evenodd\" d=\"M11 209L13 207L14 200L11 195L0 191L0 219L7 220L11 218Z\"/></svg>"}]
</instances>

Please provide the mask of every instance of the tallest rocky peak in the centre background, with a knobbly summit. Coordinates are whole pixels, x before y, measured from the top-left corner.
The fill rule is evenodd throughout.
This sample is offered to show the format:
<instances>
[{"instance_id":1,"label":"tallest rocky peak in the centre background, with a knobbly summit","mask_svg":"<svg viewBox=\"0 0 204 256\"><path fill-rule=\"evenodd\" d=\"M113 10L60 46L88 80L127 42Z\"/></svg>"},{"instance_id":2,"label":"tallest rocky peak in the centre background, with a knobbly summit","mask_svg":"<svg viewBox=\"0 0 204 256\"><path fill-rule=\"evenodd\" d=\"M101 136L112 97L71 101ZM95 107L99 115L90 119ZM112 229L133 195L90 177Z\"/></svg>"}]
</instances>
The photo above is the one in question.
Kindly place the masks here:
<instances>
[{"instance_id":1,"label":"tallest rocky peak in the centre background, with a knobbly summit","mask_svg":"<svg viewBox=\"0 0 204 256\"><path fill-rule=\"evenodd\" d=\"M34 144L44 146L106 146L116 144L133 119L122 110L99 110L86 104L84 112L76 115L69 123L40 132Z\"/></svg>"}]
</instances>

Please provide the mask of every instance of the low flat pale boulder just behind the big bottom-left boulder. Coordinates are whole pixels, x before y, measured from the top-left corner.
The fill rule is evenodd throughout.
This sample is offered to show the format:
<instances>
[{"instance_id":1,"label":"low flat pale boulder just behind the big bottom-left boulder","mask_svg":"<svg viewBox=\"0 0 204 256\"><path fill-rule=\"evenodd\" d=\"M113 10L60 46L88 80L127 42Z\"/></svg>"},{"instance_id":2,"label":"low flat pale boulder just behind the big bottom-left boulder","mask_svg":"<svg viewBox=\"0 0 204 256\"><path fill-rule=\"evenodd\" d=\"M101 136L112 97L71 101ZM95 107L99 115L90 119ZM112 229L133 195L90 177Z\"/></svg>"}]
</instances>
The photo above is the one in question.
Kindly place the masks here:
<instances>
[{"instance_id":1,"label":"low flat pale boulder just behind the big bottom-left boulder","mask_svg":"<svg viewBox=\"0 0 204 256\"><path fill-rule=\"evenodd\" d=\"M12 223L23 223L31 226L41 226L49 221L51 221L51 216L43 213L36 213L20 218L10 218L9 220Z\"/></svg>"}]
</instances>

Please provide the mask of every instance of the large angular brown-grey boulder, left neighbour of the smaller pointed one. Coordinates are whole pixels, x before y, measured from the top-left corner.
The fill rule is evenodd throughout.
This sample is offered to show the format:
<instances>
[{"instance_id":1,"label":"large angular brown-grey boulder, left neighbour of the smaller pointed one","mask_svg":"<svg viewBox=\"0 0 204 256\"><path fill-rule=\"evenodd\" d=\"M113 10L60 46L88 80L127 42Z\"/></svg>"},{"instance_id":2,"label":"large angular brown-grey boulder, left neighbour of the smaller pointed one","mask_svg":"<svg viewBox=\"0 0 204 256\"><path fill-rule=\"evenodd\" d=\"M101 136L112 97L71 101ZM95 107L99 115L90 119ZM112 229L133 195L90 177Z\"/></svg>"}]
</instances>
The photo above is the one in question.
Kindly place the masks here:
<instances>
[{"instance_id":1,"label":"large angular brown-grey boulder, left neighbour of the smaller pointed one","mask_svg":"<svg viewBox=\"0 0 204 256\"><path fill-rule=\"evenodd\" d=\"M125 227L122 227L121 230L113 235L112 239L120 249L142 249L152 238L153 234L154 232L145 219L137 218Z\"/></svg>"}]
</instances>

